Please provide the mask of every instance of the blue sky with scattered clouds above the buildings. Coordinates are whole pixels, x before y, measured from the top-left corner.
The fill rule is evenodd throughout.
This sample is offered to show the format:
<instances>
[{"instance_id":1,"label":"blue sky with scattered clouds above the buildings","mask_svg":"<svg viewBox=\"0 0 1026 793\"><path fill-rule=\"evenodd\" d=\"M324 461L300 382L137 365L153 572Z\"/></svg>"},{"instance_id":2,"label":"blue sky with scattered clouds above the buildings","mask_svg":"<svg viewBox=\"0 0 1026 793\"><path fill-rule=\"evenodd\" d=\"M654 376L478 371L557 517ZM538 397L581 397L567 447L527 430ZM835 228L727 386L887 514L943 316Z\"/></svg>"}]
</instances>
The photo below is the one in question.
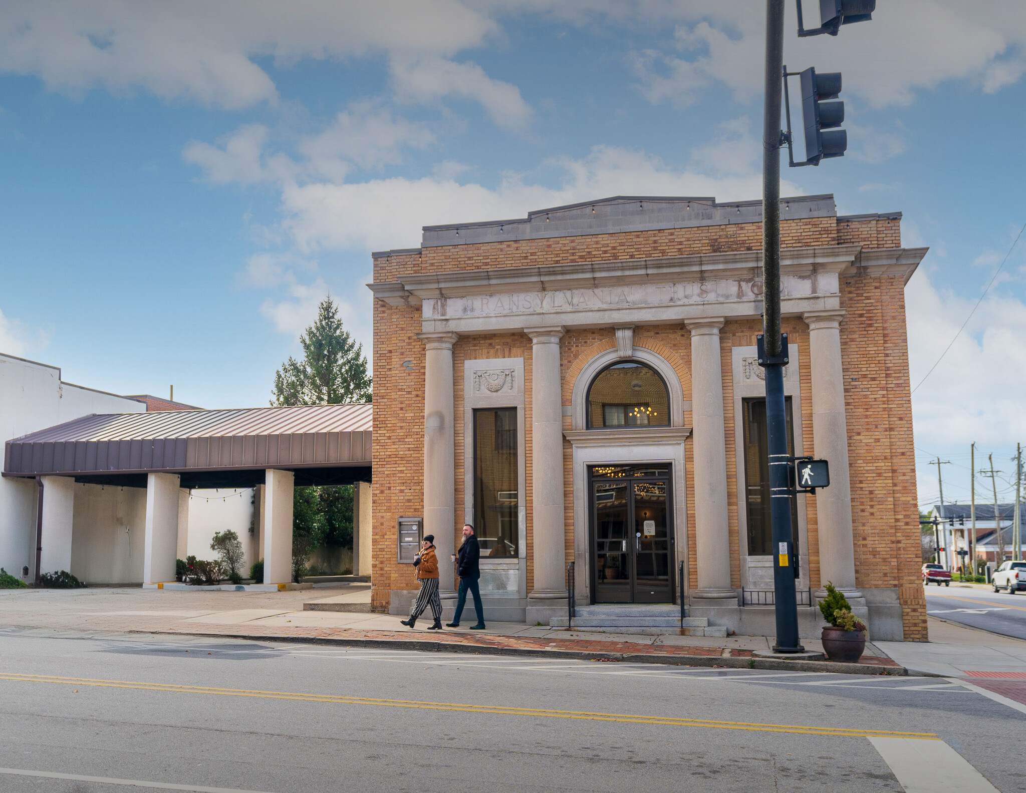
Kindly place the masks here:
<instances>
[{"instance_id":1,"label":"blue sky with scattered clouds above the buildings","mask_svg":"<svg viewBox=\"0 0 1026 793\"><path fill-rule=\"evenodd\" d=\"M1026 5L878 6L836 38L789 23L789 68L844 76L850 148L785 168L784 191L901 210L931 247L907 289L917 384L1026 224ZM369 354L369 251L423 225L756 199L763 7L5 3L0 350L118 393L265 404L328 291ZM924 504L931 454L964 501L971 441L1007 473L1026 441L1020 244L914 395Z\"/></svg>"}]
</instances>

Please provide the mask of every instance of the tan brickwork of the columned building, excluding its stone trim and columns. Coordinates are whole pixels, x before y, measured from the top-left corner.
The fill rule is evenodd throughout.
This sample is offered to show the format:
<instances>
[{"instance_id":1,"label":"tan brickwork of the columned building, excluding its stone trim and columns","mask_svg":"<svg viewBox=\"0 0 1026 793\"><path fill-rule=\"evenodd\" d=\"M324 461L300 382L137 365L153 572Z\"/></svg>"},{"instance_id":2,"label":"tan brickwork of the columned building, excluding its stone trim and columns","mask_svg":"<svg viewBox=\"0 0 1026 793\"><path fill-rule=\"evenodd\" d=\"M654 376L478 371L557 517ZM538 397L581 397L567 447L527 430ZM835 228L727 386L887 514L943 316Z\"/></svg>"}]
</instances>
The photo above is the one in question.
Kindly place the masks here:
<instances>
[{"instance_id":1,"label":"tan brickwork of the columned building, excluding its stone trim and columns","mask_svg":"<svg viewBox=\"0 0 1026 793\"><path fill-rule=\"evenodd\" d=\"M861 244L863 250L900 248L900 225L895 217L812 217L782 224L785 248ZM632 231L613 234L527 239L511 242L441 245L417 252L376 254L374 282L397 282L403 277L474 270L525 268L576 262L615 262L636 259L753 251L761 246L761 225L744 223L698 228ZM925 640L925 604L918 580L919 539L912 415L905 331L904 283L900 276L866 275L860 268L840 277L844 319L840 326L844 370L844 398L849 428L852 510L855 527L856 576L859 587L894 589L901 603L904 638ZM417 305L387 305L374 301L374 448L373 448L373 594L376 610L387 610L393 591L416 589L412 568L396 563L396 526L399 517L417 516L423 504L424 465L424 344ZM783 330L799 350L802 441L815 453L813 404L810 387L810 331L800 317L785 316ZM757 318L728 319L720 331L721 370L727 460L727 499L731 520L732 585L741 587L738 509L739 493L734 425L732 348L755 345L761 332ZM690 394L690 333L683 323L639 325L634 345L666 359L677 373L685 404ZM563 426L575 382L582 367L597 354L617 346L610 327L568 328L560 345ZM526 579L534 586L531 523L531 340L522 332L461 335L453 346L456 443L456 515L464 514L464 361L523 358L526 405ZM684 413L690 426L689 412ZM573 471L569 442L564 442L565 549L574 558ZM692 470L692 443L684 449ZM694 551L694 485L687 479L687 547ZM805 500L808 579L821 586L816 498ZM679 518L678 518L679 519ZM452 527L453 537L459 533ZM456 543L459 545L459 543ZM697 582L697 554L688 553L690 586Z\"/></svg>"}]
</instances>

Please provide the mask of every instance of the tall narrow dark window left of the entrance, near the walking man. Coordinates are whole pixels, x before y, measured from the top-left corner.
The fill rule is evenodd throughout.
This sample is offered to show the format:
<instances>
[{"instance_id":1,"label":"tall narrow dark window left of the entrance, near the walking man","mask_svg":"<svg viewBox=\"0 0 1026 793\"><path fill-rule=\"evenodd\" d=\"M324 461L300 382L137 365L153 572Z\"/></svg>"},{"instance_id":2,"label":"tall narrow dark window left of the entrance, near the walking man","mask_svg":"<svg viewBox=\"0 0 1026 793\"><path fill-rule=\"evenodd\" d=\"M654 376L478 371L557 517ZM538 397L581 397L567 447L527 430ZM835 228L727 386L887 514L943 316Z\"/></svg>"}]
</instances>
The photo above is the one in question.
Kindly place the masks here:
<instances>
[{"instance_id":1,"label":"tall narrow dark window left of the entrance, near the walking man","mask_svg":"<svg viewBox=\"0 0 1026 793\"><path fill-rule=\"evenodd\" d=\"M518 555L517 437L515 407L474 410L474 526L484 556Z\"/></svg>"}]
</instances>

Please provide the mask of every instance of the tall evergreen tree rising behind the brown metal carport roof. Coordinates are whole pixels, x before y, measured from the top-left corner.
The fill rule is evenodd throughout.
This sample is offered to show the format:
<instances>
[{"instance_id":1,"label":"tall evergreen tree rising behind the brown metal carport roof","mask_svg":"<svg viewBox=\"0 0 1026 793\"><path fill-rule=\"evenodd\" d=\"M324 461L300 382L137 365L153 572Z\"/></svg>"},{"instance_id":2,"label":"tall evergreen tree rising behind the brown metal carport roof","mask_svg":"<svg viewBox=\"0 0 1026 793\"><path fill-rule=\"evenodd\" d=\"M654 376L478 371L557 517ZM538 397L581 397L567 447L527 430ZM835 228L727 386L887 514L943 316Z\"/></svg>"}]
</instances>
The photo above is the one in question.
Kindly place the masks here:
<instances>
[{"instance_id":1,"label":"tall evergreen tree rising behind the brown metal carport roof","mask_svg":"<svg viewBox=\"0 0 1026 793\"><path fill-rule=\"evenodd\" d=\"M272 405L322 405L369 402L371 379L363 345L342 327L330 296L317 309L316 321L300 336L303 359L289 356L274 375Z\"/></svg>"}]
</instances>

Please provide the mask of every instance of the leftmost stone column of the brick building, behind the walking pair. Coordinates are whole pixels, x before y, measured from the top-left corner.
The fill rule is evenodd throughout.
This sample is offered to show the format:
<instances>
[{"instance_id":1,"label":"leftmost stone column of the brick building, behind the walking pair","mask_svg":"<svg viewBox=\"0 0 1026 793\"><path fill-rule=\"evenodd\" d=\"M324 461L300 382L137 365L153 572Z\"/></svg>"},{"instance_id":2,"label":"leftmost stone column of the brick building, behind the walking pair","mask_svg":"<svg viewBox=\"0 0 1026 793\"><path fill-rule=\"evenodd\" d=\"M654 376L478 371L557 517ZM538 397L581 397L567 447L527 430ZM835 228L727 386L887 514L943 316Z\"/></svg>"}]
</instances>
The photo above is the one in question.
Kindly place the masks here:
<instances>
[{"instance_id":1,"label":"leftmost stone column of the brick building, behind the walking pair","mask_svg":"<svg viewBox=\"0 0 1026 793\"><path fill-rule=\"evenodd\" d=\"M424 364L424 533L435 536L438 589L456 597L456 414L452 397L452 345L456 333L418 333Z\"/></svg>"}]
</instances>

